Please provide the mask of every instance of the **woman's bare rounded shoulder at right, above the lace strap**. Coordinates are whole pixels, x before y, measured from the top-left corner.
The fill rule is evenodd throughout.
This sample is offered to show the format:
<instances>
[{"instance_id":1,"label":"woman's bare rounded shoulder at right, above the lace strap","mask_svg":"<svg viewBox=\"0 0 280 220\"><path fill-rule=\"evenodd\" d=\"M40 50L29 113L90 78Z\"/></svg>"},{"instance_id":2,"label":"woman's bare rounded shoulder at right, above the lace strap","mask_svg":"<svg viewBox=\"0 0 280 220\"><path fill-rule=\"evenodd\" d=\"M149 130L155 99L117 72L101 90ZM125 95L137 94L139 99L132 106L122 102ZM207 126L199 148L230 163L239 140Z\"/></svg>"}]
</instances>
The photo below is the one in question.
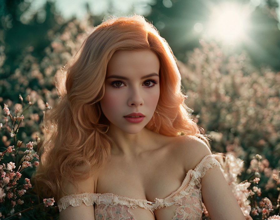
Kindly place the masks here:
<instances>
[{"instance_id":1,"label":"woman's bare rounded shoulder at right, above the lace strap","mask_svg":"<svg viewBox=\"0 0 280 220\"><path fill-rule=\"evenodd\" d=\"M176 154L187 172L190 169L194 169L202 158L212 154L212 152L203 140L195 136L186 135L178 137Z\"/></svg>"}]
</instances>

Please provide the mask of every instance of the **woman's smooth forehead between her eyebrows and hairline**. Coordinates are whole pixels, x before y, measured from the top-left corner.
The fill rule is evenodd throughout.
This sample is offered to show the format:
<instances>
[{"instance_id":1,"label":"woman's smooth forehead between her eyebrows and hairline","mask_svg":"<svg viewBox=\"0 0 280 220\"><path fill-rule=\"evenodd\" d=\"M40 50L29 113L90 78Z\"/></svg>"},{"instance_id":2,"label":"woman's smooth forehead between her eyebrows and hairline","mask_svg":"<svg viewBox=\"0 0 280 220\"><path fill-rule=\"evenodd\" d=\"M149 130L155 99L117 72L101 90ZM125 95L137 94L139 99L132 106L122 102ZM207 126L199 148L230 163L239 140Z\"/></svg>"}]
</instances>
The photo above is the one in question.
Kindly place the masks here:
<instances>
[{"instance_id":1,"label":"woman's smooth forehead between her eyebrows and hairline","mask_svg":"<svg viewBox=\"0 0 280 220\"><path fill-rule=\"evenodd\" d=\"M159 67L158 56L151 50L118 50L108 62L107 76L142 76L158 73Z\"/></svg>"}]
</instances>

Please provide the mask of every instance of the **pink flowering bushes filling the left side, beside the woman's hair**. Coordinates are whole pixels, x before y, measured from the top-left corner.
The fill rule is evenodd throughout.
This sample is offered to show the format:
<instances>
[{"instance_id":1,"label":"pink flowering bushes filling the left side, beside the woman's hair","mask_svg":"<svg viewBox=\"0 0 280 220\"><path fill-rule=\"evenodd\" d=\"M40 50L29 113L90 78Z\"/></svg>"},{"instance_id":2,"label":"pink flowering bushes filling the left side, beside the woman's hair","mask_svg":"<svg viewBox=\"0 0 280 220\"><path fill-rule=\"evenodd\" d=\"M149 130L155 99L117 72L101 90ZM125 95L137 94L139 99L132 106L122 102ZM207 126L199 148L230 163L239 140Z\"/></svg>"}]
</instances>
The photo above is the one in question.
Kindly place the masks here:
<instances>
[{"instance_id":1,"label":"pink flowering bushes filling the left side, beside the woman's hair","mask_svg":"<svg viewBox=\"0 0 280 220\"><path fill-rule=\"evenodd\" d=\"M1 198L3 198L3 201L5 198L5 204L0 203L0 212L2 215L0 219L4 217L6 217L5 219L7 219L8 216L12 217L12 215L16 214L18 215L17 217L21 217L21 213L18 212L22 211L24 211L22 213L22 219L24 219L25 217L24 213L28 213L29 215L28 217L26 217L26 219L30 219L30 216L34 217L34 219L37 219L38 217L42 219L58 219L58 207L56 206L56 202L52 198L41 199L40 201L43 200L43 202L46 202L46 205L42 207L42 204L45 203L39 202L37 194L35 195L36 189L33 189L32 184L30 183L30 180L32 180L32 173L35 172L36 166L39 163L38 160L40 158L40 153L38 153L37 155L36 152L37 147L42 144L39 136L43 136L44 133L47 132L44 128L43 122L40 121L40 119L42 118L42 112L46 110L46 108L50 107L48 107L48 104L45 105L45 102L43 100L47 100L50 105L54 105L57 101L59 101L59 94L56 91L55 81L59 81L60 75L63 74L60 69L63 64L65 64L74 55L74 53L80 47L88 34L93 31L93 27L88 25L88 22L90 22L90 20L92 19L90 17L88 20L86 17L86 20L84 20L83 22L78 22L78 20L75 19L71 22L67 22L66 25L65 23L63 23L64 21L62 17L57 16L56 19L58 24L60 24L63 28L58 28L58 30L56 31L53 31L51 29L48 31L47 37L49 38L51 43L44 49L44 57L35 57L32 54L32 52L34 51L34 47L27 47L24 56L22 56L23 60L21 62L21 65L16 67L14 72L11 73L7 78L0 80L1 89L3 91L1 95L4 97L7 97L7 93L8 98L18 96L18 93L29 94L27 96L28 107L24 111L28 111L28 115L30 116L28 118L24 118L23 114L20 114L20 116L15 116L16 121L13 121L14 117L12 117L11 115L7 115L7 113L10 112L9 108L11 109L11 107L14 107L15 113L18 113L22 111L22 104L14 104L14 100L12 101L8 98L6 98L5 103L2 104L3 114L7 116L3 117L3 122L0 121L2 122L0 124L0 133L2 138L1 141L3 144L3 146L1 146L0 148L0 152L3 152L2 155L4 155L1 163L5 162L5 168L3 166L3 170L6 173L5 175L13 175L9 174L9 172L5 169L7 166L8 168L11 168L14 163L14 166L16 166L16 168L13 169L17 170L18 167L21 166L18 172L20 172L20 174L22 174L23 176L19 179L18 184L15 185L15 187L19 187L18 195L21 197L22 202L19 202L22 203L21 205L19 205L19 203L15 203L14 207L12 207L11 204L6 204L6 202L11 202L10 200L13 199L8 198L12 194L8 194L6 185L0 187L0 197L2 196ZM61 30L62 32L60 32ZM3 64L5 63L4 61L6 59L4 49L5 45L1 45L0 73L5 72L5 68L3 67ZM56 75L56 77L54 77L54 75ZM21 101L23 101L21 96L20 99ZM3 98L0 97L0 103L2 102ZM31 104L33 108L32 110L31 108L29 108ZM2 108L0 108L0 113ZM10 116L13 119L11 122L12 125L8 125ZM2 120L2 118L0 118L0 120ZM15 122L20 123L16 124ZM38 125L37 123L40 124ZM16 127L13 128L13 125ZM26 147L23 146L22 142L19 143L22 145L17 146L17 138L27 139ZM36 139L36 141L29 142L28 139ZM11 144L12 140L15 143L13 146L16 146L14 148ZM32 150L29 149L31 148L31 145L33 147ZM11 149L13 151L12 153L10 152ZM39 156L39 158L34 158L35 153L37 156ZM11 173L14 170L12 170ZM24 178L27 178L29 181L26 182ZM24 188L24 185L25 187L29 186L28 190ZM10 189L10 191L12 192L12 189ZM34 192L34 194L31 194L31 192ZM12 193L15 197L16 194L14 192ZM33 203L38 204L38 207L34 206ZM4 205L2 206L2 204ZM27 210L28 212L25 212Z\"/></svg>"}]
</instances>

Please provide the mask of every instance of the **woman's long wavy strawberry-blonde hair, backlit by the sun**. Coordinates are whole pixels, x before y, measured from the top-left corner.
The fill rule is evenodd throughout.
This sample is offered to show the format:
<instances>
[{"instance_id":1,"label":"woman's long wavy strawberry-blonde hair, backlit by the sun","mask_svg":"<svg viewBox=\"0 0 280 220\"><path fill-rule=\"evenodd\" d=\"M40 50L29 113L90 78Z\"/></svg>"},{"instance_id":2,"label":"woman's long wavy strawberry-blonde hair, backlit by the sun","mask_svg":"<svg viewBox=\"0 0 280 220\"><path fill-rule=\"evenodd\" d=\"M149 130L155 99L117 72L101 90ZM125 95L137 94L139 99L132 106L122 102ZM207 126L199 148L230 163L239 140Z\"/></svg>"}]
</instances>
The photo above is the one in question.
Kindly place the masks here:
<instances>
[{"instance_id":1,"label":"woman's long wavy strawberry-blonde hair, backlit by the sun","mask_svg":"<svg viewBox=\"0 0 280 220\"><path fill-rule=\"evenodd\" d=\"M67 181L78 187L78 181L96 172L110 157L114 143L106 134L109 122L99 103L107 64L117 50L139 49L152 50L160 61L160 97L146 128L165 136L196 136L210 148L210 136L197 126L192 109L184 102L187 96L181 90L177 59L167 41L143 16L110 17L95 27L65 68L58 86L60 101L44 113L45 128L50 130L32 177L43 197L57 201Z\"/></svg>"}]
</instances>

